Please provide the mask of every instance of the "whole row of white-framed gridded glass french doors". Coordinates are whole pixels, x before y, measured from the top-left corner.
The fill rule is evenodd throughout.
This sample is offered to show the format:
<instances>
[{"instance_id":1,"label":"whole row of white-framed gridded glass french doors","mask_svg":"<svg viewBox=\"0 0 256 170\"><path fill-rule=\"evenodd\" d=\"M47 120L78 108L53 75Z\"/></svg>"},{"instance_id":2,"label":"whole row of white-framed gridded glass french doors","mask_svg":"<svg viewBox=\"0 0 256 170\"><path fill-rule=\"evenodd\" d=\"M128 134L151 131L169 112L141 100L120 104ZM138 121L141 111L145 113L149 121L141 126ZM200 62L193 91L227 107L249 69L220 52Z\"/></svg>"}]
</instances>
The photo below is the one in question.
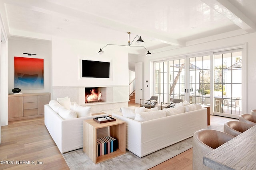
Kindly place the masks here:
<instances>
[{"instance_id":1,"label":"whole row of white-framed gridded glass french doors","mask_svg":"<svg viewBox=\"0 0 256 170\"><path fill-rule=\"evenodd\" d=\"M207 105L211 114L242 114L242 49L154 62L154 95Z\"/></svg>"}]
</instances>

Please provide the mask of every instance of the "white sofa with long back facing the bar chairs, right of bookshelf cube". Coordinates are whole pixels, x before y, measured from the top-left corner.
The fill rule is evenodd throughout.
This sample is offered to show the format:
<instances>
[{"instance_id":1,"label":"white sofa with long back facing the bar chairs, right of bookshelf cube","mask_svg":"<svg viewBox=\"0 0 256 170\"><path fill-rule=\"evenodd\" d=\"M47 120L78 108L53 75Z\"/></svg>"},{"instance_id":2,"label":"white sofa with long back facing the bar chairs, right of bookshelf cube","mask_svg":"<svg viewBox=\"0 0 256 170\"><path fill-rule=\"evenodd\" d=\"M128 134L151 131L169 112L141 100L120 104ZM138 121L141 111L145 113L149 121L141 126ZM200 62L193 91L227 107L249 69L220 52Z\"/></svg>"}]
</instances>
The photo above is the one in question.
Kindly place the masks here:
<instances>
[{"instance_id":1,"label":"white sofa with long back facing the bar chairs, right of bookshelf cube","mask_svg":"<svg viewBox=\"0 0 256 170\"><path fill-rule=\"evenodd\" d=\"M183 113L181 111L179 114L172 113L172 109L170 109L172 111L150 111L152 114L157 115L159 113L163 115L165 112L165 115L168 116L148 121L143 121L143 116L140 116L140 121L136 121L136 118L133 119L133 117L128 118L115 113L112 114L112 117L126 122L126 149L139 157L143 157L192 137L194 132L207 128L206 108L191 109L193 111L188 111L189 109L184 109L184 107L182 109ZM184 112L185 110L187 112ZM145 114L150 112L145 112Z\"/></svg>"}]
</instances>

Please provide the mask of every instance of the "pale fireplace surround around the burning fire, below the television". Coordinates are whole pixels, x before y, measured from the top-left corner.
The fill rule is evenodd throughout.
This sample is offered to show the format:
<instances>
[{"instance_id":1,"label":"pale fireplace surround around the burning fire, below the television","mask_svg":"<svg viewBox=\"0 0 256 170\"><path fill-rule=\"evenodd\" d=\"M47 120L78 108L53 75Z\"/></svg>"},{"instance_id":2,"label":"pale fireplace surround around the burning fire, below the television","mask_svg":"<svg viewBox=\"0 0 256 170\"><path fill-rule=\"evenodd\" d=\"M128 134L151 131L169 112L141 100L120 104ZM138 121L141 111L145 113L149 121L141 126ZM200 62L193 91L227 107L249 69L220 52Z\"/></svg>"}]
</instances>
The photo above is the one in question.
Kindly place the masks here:
<instances>
[{"instance_id":1,"label":"pale fireplace surround around the burning fire, below the television","mask_svg":"<svg viewBox=\"0 0 256 170\"><path fill-rule=\"evenodd\" d=\"M106 102L85 103L85 88L106 87ZM129 86L54 86L52 100L68 96L71 102L81 106L91 106L92 113L103 110L127 107L129 102Z\"/></svg>"}]
</instances>

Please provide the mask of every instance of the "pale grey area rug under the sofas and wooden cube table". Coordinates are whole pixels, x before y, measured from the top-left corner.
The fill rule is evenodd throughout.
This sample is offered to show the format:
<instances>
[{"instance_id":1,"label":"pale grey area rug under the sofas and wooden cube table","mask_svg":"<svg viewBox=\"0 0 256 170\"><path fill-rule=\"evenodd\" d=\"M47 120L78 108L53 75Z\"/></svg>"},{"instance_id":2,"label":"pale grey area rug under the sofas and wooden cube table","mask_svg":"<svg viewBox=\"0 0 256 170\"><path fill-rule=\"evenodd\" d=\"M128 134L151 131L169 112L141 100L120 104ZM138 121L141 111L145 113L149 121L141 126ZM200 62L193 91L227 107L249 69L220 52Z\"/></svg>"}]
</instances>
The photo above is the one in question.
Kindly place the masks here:
<instances>
[{"instance_id":1,"label":"pale grey area rug under the sofas and wooden cube table","mask_svg":"<svg viewBox=\"0 0 256 170\"><path fill-rule=\"evenodd\" d=\"M73 150L62 155L70 170L147 170L190 148L192 148L192 137L142 158L126 150L126 153L121 156L94 164L83 149Z\"/></svg>"}]
</instances>

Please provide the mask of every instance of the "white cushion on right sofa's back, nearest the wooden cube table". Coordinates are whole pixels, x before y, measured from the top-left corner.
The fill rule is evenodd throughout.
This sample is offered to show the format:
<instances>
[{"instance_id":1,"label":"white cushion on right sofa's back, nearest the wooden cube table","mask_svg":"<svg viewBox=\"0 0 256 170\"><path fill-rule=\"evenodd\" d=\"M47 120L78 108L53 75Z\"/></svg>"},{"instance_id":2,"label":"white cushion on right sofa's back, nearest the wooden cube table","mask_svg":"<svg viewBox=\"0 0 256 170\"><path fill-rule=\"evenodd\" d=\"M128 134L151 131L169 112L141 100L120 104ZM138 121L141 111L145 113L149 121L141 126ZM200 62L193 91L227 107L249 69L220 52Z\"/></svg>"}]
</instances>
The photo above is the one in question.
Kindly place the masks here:
<instances>
[{"instance_id":1,"label":"white cushion on right sofa's back, nearest the wooden cube table","mask_svg":"<svg viewBox=\"0 0 256 170\"><path fill-rule=\"evenodd\" d=\"M166 112L162 110L158 110L158 111L148 111L148 112L137 113L135 115L134 120L143 122L143 121L148 121L152 119L157 119L160 117L166 117Z\"/></svg>"}]
</instances>

